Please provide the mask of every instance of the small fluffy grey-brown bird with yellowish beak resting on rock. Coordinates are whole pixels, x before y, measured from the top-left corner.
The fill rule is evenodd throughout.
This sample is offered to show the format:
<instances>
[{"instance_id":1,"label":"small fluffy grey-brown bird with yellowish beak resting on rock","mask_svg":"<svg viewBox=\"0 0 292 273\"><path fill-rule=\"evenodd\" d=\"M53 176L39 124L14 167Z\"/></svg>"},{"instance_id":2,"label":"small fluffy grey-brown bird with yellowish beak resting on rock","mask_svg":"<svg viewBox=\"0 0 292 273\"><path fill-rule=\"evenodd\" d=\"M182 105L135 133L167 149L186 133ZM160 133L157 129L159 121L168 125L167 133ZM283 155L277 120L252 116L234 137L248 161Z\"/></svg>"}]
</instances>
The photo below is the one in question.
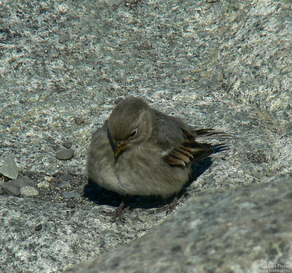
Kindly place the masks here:
<instances>
[{"instance_id":1,"label":"small fluffy grey-brown bird with yellowish beak resting on rock","mask_svg":"<svg viewBox=\"0 0 292 273\"><path fill-rule=\"evenodd\" d=\"M179 193L189 179L191 163L213 153L211 144L198 141L228 136L211 128L194 130L181 119L152 109L143 99L128 97L92 135L89 179L126 196L114 213L107 214L113 215L112 222L117 217L123 221L128 196L166 198ZM177 197L171 211L176 202Z\"/></svg>"}]
</instances>

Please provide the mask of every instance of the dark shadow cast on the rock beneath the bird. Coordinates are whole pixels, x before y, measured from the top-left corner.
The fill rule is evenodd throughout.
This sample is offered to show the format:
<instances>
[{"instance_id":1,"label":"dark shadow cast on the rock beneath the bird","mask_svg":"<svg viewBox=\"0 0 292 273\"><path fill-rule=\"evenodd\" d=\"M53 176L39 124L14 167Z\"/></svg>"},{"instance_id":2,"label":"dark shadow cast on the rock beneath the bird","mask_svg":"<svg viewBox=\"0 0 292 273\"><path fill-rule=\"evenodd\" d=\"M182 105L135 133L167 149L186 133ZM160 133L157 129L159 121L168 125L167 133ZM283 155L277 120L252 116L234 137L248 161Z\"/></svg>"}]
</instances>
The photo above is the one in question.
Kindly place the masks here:
<instances>
[{"instance_id":1,"label":"dark shadow cast on the rock beneath the bird","mask_svg":"<svg viewBox=\"0 0 292 273\"><path fill-rule=\"evenodd\" d=\"M214 152L218 152L215 151ZM196 180L201 174L204 173L210 166L212 165L211 157L207 157L199 162L195 162L192 164L192 173L190 176L189 181L186 185L182 188L179 193L178 198L185 195L187 192L187 187ZM100 186L98 186L94 181L88 180L88 183L84 187L84 197L88 198L89 200L95 202L98 205L109 205L112 207L118 207L123 200L123 196L115 193L111 190L106 190ZM130 206L132 208L142 208L142 209L151 209L162 207L168 203L170 203L174 198L170 196L168 198L161 198L159 196L133 196L128 200L126 206Z\"/></svg>"}]
</instances>

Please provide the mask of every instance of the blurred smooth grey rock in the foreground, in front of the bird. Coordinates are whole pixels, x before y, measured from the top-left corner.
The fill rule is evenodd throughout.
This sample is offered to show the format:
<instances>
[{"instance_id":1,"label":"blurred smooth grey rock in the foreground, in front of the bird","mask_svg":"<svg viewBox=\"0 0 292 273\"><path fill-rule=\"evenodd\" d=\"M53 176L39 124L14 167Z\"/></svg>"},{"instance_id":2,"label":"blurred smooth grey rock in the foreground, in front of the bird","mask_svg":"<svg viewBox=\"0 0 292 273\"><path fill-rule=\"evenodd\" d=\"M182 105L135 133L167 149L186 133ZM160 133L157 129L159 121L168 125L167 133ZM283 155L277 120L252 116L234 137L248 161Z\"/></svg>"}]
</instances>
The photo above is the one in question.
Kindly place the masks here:
<instances>
[{"instance_id":1,"label":"blurred smooth grey rock in the foreground, in front of the bird","mask_svg":"<svg viewBox=\"0 0 292 273\"><path fill-rule=\"evenodd\" d=\"M144 237L65 272L291 270L291 196L292 179L203 190Z\"/></svg>"}]
</instances>

